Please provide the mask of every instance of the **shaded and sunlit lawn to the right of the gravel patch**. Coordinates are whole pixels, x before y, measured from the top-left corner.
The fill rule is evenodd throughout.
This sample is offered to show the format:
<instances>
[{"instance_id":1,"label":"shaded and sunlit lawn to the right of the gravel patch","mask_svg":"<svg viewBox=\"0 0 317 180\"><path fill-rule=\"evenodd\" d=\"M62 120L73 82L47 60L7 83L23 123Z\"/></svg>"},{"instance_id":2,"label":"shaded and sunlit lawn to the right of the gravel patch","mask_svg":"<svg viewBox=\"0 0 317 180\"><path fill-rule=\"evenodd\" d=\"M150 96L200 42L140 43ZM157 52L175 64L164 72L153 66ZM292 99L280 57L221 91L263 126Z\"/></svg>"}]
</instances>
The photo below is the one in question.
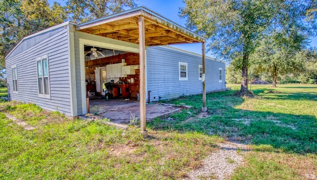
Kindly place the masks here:
<instances>
[{"instance_id":1,"label":"shaded and sunlit lawn to the right of the gravel patch","mask_svg":"<svg viewBox=\"0 0 317 180\"><path fill-rule=\"evenodd\" d=\"M317 85L252 85L254 98L234 95L240 85L227 86L232 90L207 95L208 117L199 116L202 96L189 96L166 103L194 109L157 118L149 126L251 144L233 180L317 179Z\"/></svg>"}]
</instances>

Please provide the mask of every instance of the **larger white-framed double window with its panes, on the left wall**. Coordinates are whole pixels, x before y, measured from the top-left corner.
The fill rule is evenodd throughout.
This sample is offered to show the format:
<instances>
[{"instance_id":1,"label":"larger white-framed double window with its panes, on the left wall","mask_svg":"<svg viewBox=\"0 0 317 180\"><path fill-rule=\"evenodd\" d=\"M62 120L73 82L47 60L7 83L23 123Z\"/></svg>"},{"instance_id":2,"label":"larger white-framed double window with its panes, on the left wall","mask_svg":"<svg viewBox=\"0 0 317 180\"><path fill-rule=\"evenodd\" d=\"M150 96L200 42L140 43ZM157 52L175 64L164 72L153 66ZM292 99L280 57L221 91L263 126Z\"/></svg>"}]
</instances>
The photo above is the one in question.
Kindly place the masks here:
<instances>
[{"instance_id":1,"label":"larger white-framed double window with its panes, on the left wall","mask_svg":"<svg viewBox=\"0 0 317 180\"><path fill-rule=\"evenodd\" d=\"M39 97L50 98L49 62L48 56L36 59Z\"/></svg>"}]
</instances>

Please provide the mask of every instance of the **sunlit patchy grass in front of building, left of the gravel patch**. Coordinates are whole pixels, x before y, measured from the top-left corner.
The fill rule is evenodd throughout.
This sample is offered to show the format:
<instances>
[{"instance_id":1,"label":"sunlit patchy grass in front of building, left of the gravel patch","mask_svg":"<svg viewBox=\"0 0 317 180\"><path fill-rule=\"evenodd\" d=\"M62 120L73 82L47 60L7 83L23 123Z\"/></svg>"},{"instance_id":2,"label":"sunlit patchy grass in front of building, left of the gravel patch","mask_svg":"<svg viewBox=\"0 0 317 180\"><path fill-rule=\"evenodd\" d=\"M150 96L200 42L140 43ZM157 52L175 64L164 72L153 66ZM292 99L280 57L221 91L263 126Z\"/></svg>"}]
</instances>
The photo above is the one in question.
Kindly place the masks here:
<instances>
[{"instance_id":1,"label":"sunlit patchy grass in front of building, left of the gravel patch","mask_svg":"<svg viewBox=\"0 0 317 180\"><path fill-rule=\"evenodd\" d=\"M33 104L0 103L37 126L26 131L0 113L0 179L181 179L215 149L215 136L107 126L106 120L67 120ZM154 176L155 175L155 176Z\"/></svg>"}]
</instances>

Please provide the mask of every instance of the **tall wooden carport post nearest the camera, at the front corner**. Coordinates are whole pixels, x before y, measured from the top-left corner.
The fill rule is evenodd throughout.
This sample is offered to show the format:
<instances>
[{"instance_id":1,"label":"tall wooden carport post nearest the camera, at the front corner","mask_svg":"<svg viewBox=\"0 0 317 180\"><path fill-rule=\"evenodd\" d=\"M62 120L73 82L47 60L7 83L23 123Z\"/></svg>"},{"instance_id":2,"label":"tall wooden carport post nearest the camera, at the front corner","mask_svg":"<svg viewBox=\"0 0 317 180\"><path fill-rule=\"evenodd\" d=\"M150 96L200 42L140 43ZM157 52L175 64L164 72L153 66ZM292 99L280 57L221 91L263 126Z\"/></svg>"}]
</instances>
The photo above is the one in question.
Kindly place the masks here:
<instances>
[{"instance_id":1,"label":"tall wooden carport post nearest the camera, at the front corner","mask_svg":"<svg viewBox=\"0 0 317 180\"><path fill-rule=\"evenodd\" d=\"M139 48L140 48L140 128L144 137L148 135L146 130L145 108L145 30L144 16L139 16Z\"/></svg>"}]
</instances>

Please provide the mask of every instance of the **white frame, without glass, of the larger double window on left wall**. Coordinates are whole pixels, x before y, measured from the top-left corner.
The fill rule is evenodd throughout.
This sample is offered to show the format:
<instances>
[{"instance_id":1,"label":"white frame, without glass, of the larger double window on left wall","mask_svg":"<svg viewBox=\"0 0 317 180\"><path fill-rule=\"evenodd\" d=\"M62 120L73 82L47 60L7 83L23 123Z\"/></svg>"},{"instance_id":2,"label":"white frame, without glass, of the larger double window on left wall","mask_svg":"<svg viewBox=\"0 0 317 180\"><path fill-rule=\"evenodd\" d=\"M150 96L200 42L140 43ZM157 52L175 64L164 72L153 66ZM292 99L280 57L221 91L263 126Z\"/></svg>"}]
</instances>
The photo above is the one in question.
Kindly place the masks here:
<instances>
[{"instance_id":1,"label":"white frame, without glass, of the larger double window on left wall","mask_svg":"<svg viewBox=\"0 0 317 180\"><path fill-rule=\"evenodd\" d=\"M43 60L46 59L47 62L47 75L44 75L44 65L43 65ZM38 69L38 62L41 62L41 76L39 76L39 69ZM40 98L47 98L51 99L51 86L50 86L50 68L49 68L49 59L48 55L44 55L42 57L39 57L35 61L36 63L36 81L38 84L38 96ZM40 93L40 84L39 84L39 78L42 78L42 93ZM45 94L45 78L48 78L48 94Z\"/></svg>"}]
</instances>

